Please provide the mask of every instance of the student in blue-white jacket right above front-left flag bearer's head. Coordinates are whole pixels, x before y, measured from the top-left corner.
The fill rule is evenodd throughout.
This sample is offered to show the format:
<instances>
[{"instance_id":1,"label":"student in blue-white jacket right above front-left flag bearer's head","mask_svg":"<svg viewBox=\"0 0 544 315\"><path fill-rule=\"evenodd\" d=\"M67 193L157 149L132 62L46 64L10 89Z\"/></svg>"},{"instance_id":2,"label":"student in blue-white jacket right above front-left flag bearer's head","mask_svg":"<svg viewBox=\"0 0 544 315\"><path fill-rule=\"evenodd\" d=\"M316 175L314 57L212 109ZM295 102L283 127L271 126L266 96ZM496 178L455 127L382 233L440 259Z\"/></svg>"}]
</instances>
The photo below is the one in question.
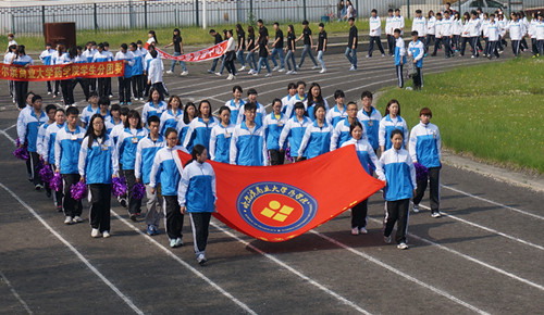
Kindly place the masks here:
<instances>
[{"instance_id":1,"label":"student in blue-white jacket right above front-left flag bearer's head","mask_svg":"<svg viewBox=\"0 0 544 315\"><path fill-rule=\"evenodd\" d=\"M210 159L211 161L227 163L231 154L231 137L235 125L231 124L231 110L228 106L219 109L221 123L213 126L210 134Z\"/></svg>"}]
</instances>

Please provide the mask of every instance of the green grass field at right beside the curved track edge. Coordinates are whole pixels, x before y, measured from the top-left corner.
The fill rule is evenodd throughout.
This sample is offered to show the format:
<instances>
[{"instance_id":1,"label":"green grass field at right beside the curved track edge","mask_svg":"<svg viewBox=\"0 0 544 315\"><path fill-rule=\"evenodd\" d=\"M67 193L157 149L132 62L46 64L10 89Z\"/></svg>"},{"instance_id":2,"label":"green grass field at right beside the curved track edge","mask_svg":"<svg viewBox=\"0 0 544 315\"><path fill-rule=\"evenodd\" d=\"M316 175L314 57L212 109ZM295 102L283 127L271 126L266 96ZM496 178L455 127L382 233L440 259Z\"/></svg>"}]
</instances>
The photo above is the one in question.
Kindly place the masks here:
<instances>
[{"instance_id":1,"label":"green grass field at right beside the curved track edge","mask_svg":"<svg viewBox=\"0 0 544 315\"><path fill-rule=\"evenodd\" d=\"M424 65L423 65L424 73ZM409 83L411 86L411 81ZM422 91L396 88L378 101L400 102L411 128L419 110L433 111L443 146L529 173L544 174L544 60L518 59L424 76Z\"/></svg>"}]
</instances>

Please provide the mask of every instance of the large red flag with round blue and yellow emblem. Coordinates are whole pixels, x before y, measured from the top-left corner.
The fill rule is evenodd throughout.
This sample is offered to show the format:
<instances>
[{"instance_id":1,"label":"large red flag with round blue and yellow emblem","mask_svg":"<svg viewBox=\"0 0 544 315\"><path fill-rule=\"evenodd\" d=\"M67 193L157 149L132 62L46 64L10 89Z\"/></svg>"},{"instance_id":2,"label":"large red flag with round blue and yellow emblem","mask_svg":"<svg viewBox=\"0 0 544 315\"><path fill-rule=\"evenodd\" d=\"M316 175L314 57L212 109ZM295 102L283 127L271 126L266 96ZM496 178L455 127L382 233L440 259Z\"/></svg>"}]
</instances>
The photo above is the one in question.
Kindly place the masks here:
<instances>
[{"instance_id":1,"label":"large red flag with round blue and yellow emblem","mask_svg":"<svg viewBox=\"0 0 544 315\"><path fill-rule=\"evenodd\" d=\"M190 160L187 153L178 154L183 163ZM213 215L245 235L270 242L295 238L384 186L364 172L354 146L279 166L209 163L217 176L218 211Z\"/></svg>"}]
</instances>

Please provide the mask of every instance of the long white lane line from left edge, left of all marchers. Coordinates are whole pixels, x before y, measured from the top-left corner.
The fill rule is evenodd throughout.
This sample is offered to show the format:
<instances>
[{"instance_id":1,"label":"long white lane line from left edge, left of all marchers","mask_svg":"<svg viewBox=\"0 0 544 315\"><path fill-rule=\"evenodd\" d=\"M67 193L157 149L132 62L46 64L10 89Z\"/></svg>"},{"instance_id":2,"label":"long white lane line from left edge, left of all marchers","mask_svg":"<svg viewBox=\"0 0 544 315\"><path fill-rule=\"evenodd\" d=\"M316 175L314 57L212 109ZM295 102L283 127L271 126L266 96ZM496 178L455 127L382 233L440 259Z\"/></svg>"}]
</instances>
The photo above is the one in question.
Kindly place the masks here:
<instances>
[{"instance_id":1,"label":"long white lane line from left edge, left of all marchers","mask_svg":"<svg viewBox=\"0 0 544 315\"><path fill-rule=\"evenodd\" d=\"M121 298L121 300L123 300L123 302L125 302L125 304L128 305L128 307L131 307L134 313L141 315L144 314L144 312L139 310L138 306L136 306L128 297L126 297L123 292L121 292L120 289L118 289L118 287L115 287L115 285L108 280L108 278L106 278L104 275L102 275L82 253L79 253L76 248L74 248L65 238L63 238L44 218L41 218L41 216L36 211L34 211L34 209L26 204L26 202L24 202L18 196L15 194L15 192L13 192L2 182L0 182L0 187L8 193L10 193L11 197L13 197L18 203L21 203L21 205L28 210L28 212L30 212L32 215L34 215L34 217L36 217L39 223L41 223L41 225L44 225L44 227L46 227L46 229L48 229L58 240L60 240L66 248L69 248L70 251L72 251L79 259L79 261L82 261L87 266L87 268L89 268L95 275L97 275L100 280L102 280L102 282L110 287L110 289L115 292L115 294L118 294L118 297Z\"/></svg>"}]
</instances>

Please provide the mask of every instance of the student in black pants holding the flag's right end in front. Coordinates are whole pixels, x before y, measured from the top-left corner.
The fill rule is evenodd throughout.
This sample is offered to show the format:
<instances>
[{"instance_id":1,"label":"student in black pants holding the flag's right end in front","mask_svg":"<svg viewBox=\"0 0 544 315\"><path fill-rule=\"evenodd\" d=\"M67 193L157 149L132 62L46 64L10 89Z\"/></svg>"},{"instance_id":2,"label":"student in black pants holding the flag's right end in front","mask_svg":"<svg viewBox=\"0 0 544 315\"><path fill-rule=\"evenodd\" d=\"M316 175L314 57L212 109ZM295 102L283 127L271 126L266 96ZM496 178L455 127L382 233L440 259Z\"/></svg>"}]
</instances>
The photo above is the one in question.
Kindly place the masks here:
<instances>
[{"instance_id":1,"label":"student in black pants holding the flag's right end in front","mask_svg":"<svg viewBox=\"0 0 544 315\"><path fill-rule=\"evenodd\" d=\"M383 237L386 243L391 243L391 234L396 223L397 249L406 250L410 198L416 196L417 188L416 168L410 154L403 149L403 131L393 130L391 141L393 148L383 152L379 162L383 169L379 179L385 181L384 199L387 210Z\"/></svg>"}]
</instances>

